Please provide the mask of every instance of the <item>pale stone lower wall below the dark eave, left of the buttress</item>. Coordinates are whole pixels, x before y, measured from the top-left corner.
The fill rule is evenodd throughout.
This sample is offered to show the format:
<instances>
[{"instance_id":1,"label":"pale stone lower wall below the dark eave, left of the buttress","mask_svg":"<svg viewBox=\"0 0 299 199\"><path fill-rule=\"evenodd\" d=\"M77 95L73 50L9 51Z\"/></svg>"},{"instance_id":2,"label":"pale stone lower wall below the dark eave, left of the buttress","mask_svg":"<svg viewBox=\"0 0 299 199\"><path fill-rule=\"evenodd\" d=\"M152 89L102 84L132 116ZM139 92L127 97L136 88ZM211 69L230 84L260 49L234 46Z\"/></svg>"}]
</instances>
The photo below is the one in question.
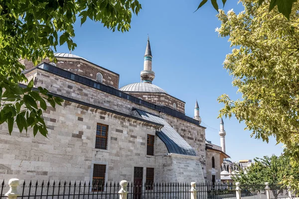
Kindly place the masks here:
<instances>
[{"instance_id":1,"label":"pale stone lower wall below the dark eave, left of the buttress","mask_svg":"<svg viewBox=\"0 0 299 199\"><path fill-rule=\"evenodd\" d=\"M48 106L43 117L48 138L20 134L16 125L9 135L0 125L0 179L89 181L93 164L105 164L106 181L132 181L134 166L155 168L155 156L146 155L147 134L159 125L69 101ZM97 123L109 126L107 150L95 148ZM165 150L156 145L155 151Z\"/></svg>"}]
</instances>

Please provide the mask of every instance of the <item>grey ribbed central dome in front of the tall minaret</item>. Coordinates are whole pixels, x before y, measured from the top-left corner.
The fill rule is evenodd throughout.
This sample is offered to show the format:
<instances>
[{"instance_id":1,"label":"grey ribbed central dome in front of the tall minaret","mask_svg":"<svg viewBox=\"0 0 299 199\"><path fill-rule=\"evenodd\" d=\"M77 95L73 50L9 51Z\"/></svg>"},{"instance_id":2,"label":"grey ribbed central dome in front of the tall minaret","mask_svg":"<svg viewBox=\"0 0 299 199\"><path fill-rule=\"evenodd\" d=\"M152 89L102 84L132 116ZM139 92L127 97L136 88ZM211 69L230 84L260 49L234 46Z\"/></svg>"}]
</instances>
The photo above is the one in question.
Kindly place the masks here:
<instances>
[{"instance_id":1,"label":"grey ribbed central dome in front of the tall minaret","mask_svg":"<svg viewBox=\"0 0 299 199\"><path fill-rule=\"evenodd\" d=\"M149 84L149 83L133 83L128 84L122 88L120 88L120 91L123 92L148 92L148 93L166 93L163 89L160 87Z\"/></svg>"}]
</instances>

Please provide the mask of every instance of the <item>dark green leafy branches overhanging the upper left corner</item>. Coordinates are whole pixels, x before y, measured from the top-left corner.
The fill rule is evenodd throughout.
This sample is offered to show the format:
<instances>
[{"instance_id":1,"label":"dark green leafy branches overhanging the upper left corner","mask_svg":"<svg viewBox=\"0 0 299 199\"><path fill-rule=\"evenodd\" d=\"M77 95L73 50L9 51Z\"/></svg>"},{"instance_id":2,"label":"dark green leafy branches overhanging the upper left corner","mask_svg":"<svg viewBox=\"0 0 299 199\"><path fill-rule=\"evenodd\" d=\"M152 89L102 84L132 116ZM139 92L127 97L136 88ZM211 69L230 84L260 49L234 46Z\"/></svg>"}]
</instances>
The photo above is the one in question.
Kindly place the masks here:
<instances>
[{"instance_id":1,"label":"dark green leafy branches overhanging the upper left corner","mask_svg":"<svg viewBox=\"0 0 299 199\"><path fill-rule=\"evenodd\" d=\"M138 14L137 0L1 0L0 1L0 124L8 124L9 133L16 122L22 132L33 127L33 134L47 135L42 112L46 101L55 107L62 100L38 88L33 91L33 80L22 74L25 69L19 59L37 64L45 57L55 59L53 49L67 43L70 50L76 44L73 24L87 17L100 21L115 31L128 31L132 12ZM38 102L38 103L37 103Z\"/></svg>"}]
</instances>

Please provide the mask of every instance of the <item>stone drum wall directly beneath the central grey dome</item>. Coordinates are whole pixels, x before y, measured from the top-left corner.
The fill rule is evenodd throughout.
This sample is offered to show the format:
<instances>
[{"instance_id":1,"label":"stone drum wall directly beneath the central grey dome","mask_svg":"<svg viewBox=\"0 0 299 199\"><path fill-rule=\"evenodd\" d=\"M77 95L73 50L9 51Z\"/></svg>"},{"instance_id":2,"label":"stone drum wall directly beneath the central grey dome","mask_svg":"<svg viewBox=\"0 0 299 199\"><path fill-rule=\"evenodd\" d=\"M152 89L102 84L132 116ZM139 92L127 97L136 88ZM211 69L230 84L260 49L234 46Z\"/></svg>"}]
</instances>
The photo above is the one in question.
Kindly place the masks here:
<instances>
[{"instance_id":1,"label":"stone drum wall directly beneath the central grey dome","mask_svg":"<svg viewBox=\"0 0 299 199\"><path fill-rule=\"evenodd\" d=\"M173 108L173 103L176 104L176 110L185 113L185 102L178 100L168 94L164 93L135 93L135 92L126 92L137 98L149 101L154 104L164 105L170 108Z\"/></svg>"}]
</instances>

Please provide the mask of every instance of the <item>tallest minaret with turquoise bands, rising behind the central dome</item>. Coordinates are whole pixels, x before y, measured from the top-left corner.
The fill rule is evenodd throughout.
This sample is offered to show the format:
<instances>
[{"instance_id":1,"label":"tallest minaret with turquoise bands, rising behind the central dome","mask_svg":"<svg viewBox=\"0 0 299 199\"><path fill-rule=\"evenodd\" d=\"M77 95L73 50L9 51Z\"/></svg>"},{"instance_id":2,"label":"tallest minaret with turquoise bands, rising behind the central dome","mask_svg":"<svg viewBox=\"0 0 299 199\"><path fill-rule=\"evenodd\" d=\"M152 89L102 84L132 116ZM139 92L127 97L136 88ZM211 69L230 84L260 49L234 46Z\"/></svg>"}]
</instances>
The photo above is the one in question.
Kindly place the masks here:
<instances>
[{"instance_id":1,"label":"tallest minaret with turquoise bands, rising behind the central dome","mask_svg":"<svg viewBox=\"0 0 299 199\"><path fill-rule=\"evenodd\" d=\"M152 80L154 79L154 72L151 70L152 55L151 55L150 44L149 44L149 36L148 36L148 44L147 44L144 58L145 58L144 70L140 73L140 78L143 83L151 84Z\"/></svg>"}]
</instances>

